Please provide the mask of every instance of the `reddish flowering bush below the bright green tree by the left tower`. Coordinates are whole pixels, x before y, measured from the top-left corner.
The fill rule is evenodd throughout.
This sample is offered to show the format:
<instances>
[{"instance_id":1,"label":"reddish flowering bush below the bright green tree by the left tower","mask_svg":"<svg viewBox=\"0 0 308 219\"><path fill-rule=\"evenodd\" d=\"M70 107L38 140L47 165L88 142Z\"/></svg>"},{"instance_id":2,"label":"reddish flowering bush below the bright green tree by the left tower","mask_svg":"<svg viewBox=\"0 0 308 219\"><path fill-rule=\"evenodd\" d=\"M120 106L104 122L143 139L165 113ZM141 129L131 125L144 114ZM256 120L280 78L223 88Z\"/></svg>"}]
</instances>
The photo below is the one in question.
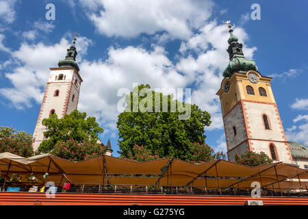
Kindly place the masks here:
<instances>
[{"instance_id":1,"label":"reddish flowering bush below the bright green tree by the left tower","mask_svg":"<svg viewBox=\"0 0 308 219\"><path fill-rule=\"evenodd\" d=\"M51 150L51 154L72 162L80 162L85 159L99 157L105 153L106 149L107 147L101 144L79 143L77 140L70 139L65 142L57 142L54 149Z\"/></svg>"}]
</instances>

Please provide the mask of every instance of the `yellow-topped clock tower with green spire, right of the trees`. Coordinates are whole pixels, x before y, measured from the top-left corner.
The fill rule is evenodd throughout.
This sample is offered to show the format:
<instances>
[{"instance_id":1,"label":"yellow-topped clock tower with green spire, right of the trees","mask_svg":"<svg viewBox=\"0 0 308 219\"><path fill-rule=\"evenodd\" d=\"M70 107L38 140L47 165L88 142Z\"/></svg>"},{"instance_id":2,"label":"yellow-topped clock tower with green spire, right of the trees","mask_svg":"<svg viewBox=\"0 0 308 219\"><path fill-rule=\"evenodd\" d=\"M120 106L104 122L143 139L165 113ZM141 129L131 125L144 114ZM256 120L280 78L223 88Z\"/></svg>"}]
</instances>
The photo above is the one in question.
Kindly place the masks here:
<instances>
[{"instance_id":1,"label":"yellow-topped clock tower with green spire, right of the trees","mask_svg":"<svg viewBox=\"0 0 308 219\"><path fill-rule=\"evenodd\" d=\"M233 29L229 32L230 62L217 92L228 159L235 161L237 153L263 151L274 162L294 164L270 85L272 78L261 75L255 62L246 60Z\"/></svg>"}]
</instances>

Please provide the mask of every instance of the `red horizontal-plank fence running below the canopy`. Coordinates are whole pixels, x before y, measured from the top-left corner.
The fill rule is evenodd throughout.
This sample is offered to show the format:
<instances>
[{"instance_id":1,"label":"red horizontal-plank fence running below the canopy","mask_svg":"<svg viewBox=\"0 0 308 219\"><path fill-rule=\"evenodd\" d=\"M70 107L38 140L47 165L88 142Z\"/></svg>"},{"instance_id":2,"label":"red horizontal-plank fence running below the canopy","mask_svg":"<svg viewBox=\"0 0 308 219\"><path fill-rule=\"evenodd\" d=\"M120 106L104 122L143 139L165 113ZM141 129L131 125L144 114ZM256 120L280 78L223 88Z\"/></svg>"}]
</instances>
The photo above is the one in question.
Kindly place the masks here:
<instances>
[{"instance_id":1,"label":"red horizontal-plank fence running below the canopy","mask_svg":"<svg viewBox=\"0 0 308 219\"><path fill-rule=\"evenodd\" d=\"M175 196L133 194L55 194L1 192L0 205L245 205L261 200L264 205L308 205L308 197Z\"/></svg>"}]
</instances>

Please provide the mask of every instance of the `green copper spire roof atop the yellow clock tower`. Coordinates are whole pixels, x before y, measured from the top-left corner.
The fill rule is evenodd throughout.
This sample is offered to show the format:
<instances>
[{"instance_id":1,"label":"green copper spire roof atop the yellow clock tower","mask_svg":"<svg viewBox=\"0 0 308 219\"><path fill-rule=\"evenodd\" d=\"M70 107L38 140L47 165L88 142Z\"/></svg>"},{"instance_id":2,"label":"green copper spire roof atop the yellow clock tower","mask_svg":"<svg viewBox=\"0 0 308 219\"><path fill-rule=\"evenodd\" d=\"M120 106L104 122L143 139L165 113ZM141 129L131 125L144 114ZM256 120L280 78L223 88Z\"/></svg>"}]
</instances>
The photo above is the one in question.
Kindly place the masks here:
<instances>
[{"instance_id":1,"label":"green copper spire roof atop the yellow clock tower","mask_svg":"<svg viewBox=\"0 0 308 219\"><path fill-rule=\"evenodd\" d=\"M230 38L227 52L229 53L230 62L227 68L224 69L222 76L230 77L235 72L246 73L247 70L258 70L255 61L246 59L242 51L243 44L238 43L238 37L233 35L233 29L231 29L231 26L229 27Z\"/></svg>"}]
</instances>

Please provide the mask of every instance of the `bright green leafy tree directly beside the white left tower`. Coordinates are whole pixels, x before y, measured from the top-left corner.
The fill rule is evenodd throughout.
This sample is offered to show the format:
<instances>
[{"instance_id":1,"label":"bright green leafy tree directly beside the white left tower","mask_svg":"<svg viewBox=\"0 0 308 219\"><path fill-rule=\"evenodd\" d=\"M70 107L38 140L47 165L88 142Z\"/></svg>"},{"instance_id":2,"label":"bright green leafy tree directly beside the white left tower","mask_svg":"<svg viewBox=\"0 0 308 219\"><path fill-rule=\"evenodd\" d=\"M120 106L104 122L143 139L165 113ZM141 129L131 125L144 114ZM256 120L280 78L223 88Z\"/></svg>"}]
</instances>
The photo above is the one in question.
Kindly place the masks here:
<instances>
[{"instance_id":1,"label":"bright green leafy tree directly beside the white left tower","mask_svg":"<svg viewBox=\"0 0 308 219\"><path fill-rule=\"evenodd\" d=\"M57 118L56 114L51 114L49 118L42 120L42 125L47 128L44 132L47 139L43 140L38 147L38 153L49 153L57 142L66 142L70 139L78 143L96 144L99 140L99 133L103 133L95 117L87 118L85 112L78 110L64 115L63 118Z\"/></svg>"}]
</instances>

